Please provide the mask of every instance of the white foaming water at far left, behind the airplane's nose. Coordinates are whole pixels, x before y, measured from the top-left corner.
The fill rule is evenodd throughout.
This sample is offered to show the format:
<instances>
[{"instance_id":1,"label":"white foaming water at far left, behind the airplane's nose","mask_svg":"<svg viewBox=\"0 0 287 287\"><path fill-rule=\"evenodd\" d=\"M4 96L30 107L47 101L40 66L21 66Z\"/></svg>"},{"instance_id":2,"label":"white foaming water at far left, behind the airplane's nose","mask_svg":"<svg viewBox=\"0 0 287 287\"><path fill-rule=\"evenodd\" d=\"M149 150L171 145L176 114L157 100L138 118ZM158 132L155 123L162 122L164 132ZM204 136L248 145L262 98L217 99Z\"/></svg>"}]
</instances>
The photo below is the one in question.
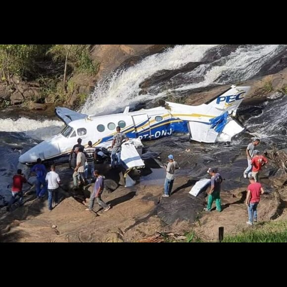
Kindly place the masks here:
<instances>
[{"instance_id":1,"label":"white foaming water at far left, behind the airplane's nose","mask_svg":"<svg viewBox=\"0 0 287 287\"><path fill-rule=\"evenodd\" d=\"M63 127L64 123L56 120L37 121L24 117L17 120L0 119L0 132L24 132L35 140L47 140L59 133Z\"/></svg>"}]
</instances>

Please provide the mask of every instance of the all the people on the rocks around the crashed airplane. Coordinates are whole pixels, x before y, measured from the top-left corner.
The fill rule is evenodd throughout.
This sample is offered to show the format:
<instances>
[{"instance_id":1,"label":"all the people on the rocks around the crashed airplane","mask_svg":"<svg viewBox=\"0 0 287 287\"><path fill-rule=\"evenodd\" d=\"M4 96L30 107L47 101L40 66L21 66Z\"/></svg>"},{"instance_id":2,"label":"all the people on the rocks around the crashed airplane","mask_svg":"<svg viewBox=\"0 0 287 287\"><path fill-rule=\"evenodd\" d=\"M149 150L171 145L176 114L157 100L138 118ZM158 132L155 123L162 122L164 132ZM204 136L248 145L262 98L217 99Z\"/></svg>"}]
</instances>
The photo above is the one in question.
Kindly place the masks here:
<instances>
[{"instance_id":1,"label":"all the people on the rocks around the crashed airplane","mask_svg":"<svg viewBox=\"0 0 287 287\"><path fill-rule=\"evenodd\" d=\"M121 149L122 144L129 140L129 138L120 132L121 128L116 128L117 133L113 137L112 152L111 152L111 168L121 164ZM88 142L88 147L84 147L81 143L82 140L78 139L78 144L73 146L70 154L69 163L73 168L73 182L74 186L79 187L79 183L87 183L88 173L91 172L92 182L95 182L94 190L90 197L89 208L86 210L93 210L94 202L104 208L104 211L109 210L110 205L101 200L101 194L104 189L104 177L99 174L98 170L95 170L95 161L97 158L96 148L93 147L92 142ZM245 204L248 206L248 225L253 225L253 222L257 221L257 206L260 201L260 195L264 193L264 190L259 183L259 173L262 166L268 163L268 160L263 155L260 155L259 150L255 147L260 143L260 140L256 139L252 143L247 145L247 168L243 172L244 178L249 178L250 184L247 187L247 195ZM162 197L169 197L171 195L173 183L175 180L175 170L180 168L178 163L174 160L174 156L170 154L168 156L168 163L164 165L166 169L166 178L164 183L164 193ZM52 210L52 199L54 197L55 206L59 202L58 189L60 184L60 177L55 172L55 166L51 165L50 172L46 173L46 167L42 164L40 158L37 159L37 164L31 168L31 173L36 173L36 195L42 199L48 191L48 210ZM220 190L221 183L223 181L222 176L217 172L215 168L209 168L207 173L211 176L211 187L208 191L207 206L205 211L210 212L212 203L215 201L216 210L221 212L221 199ZM12 185L12 197L8 203L7 210L19 196L19 202L23 202L22 185L28 183L25 176L22 174L22 170L18 169L17 174L13 177ZM30 184L30 183L28 183ZM31 184L30 184L31 185ZM42 187L42 188L41 188Z\"/></svg>"}]
</instances>

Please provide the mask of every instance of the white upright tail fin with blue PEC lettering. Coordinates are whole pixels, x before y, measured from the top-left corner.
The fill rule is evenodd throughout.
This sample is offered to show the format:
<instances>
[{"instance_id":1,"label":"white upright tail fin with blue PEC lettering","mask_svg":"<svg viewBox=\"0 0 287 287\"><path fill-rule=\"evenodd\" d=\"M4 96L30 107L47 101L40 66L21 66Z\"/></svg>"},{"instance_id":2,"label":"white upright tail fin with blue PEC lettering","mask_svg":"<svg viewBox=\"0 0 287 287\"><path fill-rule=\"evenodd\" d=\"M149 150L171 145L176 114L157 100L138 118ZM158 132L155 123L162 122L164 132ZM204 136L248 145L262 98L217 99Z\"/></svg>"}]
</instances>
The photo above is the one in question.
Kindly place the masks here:
<instances>
[{"instance_id":1,"label":"white upright tail fin with blue PEC lettering","mask_svg":"<svg viewBox=\"0 0 287 287\"><path fill-rule=\"evenodd\" d=\"M250 87L237 87L233 85L227 91L212 98L205 104L208 108L215 108L222 111L222 113L228 111L230 115L235 116L240 103L249 90Z\"/></svg>"}]
</instances>

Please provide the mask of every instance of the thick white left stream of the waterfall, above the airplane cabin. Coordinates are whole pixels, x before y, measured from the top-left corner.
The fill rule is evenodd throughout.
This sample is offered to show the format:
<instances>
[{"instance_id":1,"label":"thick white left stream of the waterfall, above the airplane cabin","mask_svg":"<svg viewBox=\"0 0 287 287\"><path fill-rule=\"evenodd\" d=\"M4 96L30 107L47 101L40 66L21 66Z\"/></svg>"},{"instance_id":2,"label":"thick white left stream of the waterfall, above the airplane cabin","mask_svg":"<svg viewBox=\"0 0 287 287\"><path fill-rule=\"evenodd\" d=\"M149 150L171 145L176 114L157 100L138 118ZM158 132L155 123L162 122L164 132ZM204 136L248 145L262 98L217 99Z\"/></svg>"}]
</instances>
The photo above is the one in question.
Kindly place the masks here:
<instances>
[{"instance_id":1,"label":"thick white left stream of the waterfall, above the airplane cabin","mask_svg":"<svg viewBox=\"0 0 287 287\"><path fill-rule=\"evenodd\" d=\"M198 62L205 52L218 45L183 45L169 48L163 53L145 57L138 64L113 73L108 81L100 83L87 100L81 112L96 114L112 112L133 102L154 98L154 95L139 96L139 85L155 72L178 69L190 62Z\"/></svg>"}]
</instances>

